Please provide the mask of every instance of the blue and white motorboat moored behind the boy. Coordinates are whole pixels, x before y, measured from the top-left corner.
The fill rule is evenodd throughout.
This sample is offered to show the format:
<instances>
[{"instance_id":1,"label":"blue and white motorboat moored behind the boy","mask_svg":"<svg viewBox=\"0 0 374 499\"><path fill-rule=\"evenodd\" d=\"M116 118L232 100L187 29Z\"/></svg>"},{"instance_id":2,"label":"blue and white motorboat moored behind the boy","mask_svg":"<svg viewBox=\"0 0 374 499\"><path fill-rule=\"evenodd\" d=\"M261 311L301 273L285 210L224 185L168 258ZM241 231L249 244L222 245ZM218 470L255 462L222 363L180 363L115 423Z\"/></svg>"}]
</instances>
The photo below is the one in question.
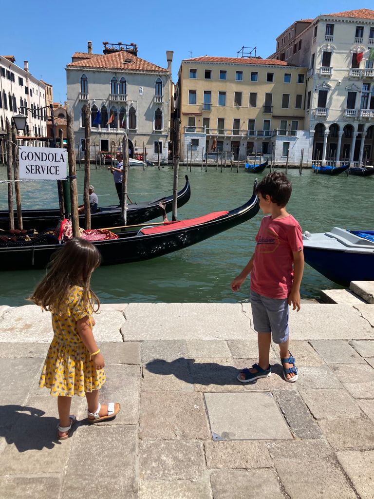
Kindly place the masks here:
<instances>
[{"instance_id":1,"label":"blue and white motorboat moored behind the boy","mask_svg":"<svg viewBox=\"0 0 374 499\"><path fill-rule=\"evenodd\" d=\"M322 234L303 235L305 261L343 286L353 280L374 280L374 231L334 227Z\"/></svg>"}]
</instances>

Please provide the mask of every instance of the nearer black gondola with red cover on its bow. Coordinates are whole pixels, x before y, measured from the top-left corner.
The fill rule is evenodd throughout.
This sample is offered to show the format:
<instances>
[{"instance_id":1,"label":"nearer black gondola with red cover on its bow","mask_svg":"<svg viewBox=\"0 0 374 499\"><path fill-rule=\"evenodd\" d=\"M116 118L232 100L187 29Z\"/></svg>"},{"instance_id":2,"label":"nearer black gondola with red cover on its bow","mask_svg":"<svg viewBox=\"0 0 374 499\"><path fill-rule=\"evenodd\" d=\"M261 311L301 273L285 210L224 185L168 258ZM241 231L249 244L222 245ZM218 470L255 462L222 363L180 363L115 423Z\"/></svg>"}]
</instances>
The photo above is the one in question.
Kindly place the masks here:
<instances>
[{"instance_id":1,"label":"nearer black gondola with red cover on its bow","mask_svg":"<svg viewBox=\"0 0 374 499\"><path fill-rule=\"evenodd\" d=\"M249 201L234 210L167 222L158 227L140 226L136 230L118 233L118 239L92 244L102 255L102 265L147 260L182 250L254 217L259 210L256 185L255 182ZM41 234L32 241L22 242L4 242L0 237L0 270L44 268L60 247L57 238L51 234Z\"/></svg>"}]
</instances>

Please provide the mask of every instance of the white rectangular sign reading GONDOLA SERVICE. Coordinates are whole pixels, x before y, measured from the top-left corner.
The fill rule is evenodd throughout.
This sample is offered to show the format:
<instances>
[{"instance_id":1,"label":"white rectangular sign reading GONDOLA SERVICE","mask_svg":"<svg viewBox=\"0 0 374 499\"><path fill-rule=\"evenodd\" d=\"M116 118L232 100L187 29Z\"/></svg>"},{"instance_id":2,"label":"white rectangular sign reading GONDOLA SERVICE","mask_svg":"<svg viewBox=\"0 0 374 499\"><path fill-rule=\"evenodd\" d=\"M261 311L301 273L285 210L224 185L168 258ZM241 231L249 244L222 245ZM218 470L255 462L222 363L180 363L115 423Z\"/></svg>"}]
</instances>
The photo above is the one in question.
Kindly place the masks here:
<instances>
[{"instance_id":1,"label":"white rectangular sign reading GONDOLA SERVICE","mask_svg":"<svg viewBox=\"0 0 374 499\"><path fill-rule=\"evenodd\" d=\"M64 180L66 172L66 149L19 146L20 179Z\"/></svg>"}]
</instances>

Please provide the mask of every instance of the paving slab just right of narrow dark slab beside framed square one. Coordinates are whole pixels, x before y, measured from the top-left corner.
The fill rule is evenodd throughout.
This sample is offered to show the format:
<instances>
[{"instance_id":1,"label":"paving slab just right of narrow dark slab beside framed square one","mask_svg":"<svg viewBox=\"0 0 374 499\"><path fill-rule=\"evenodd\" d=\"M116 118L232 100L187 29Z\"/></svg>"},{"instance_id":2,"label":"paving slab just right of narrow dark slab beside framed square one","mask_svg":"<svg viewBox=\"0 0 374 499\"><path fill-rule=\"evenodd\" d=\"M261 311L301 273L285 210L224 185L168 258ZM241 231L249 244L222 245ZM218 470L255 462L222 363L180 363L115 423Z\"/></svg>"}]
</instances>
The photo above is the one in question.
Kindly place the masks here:
<instances>
[{"instance_id":1,"label":"paving slab just right of narrow dark slab beside framed square one","mask_svg":"<svg viewBox=\"0 0 374 499\"><path fill-rule=\"evenodd\" d=\"M316 419L355 419L360 406L346 390L300 390L300 395Z\"/></svg>"}]
</instances>

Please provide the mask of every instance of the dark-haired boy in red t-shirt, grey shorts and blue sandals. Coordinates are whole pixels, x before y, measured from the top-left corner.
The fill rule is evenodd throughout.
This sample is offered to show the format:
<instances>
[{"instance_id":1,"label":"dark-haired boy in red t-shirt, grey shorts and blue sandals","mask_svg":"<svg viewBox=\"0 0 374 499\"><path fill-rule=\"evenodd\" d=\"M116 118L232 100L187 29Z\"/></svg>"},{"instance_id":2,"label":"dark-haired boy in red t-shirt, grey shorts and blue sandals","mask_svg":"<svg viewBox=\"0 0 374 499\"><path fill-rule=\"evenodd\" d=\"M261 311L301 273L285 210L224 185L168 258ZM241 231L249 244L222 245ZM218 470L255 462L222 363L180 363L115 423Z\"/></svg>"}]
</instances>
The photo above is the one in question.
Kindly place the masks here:
<instances>
[{"instance_id":1,"label":"dark-haired boy in red t-shirt, grey shorts and blue sandals","mask_svg":"<svg viewBox=\"0 0 374 499\"><path fill-rule=\"evenodd\" d=\"M288 315L289 305L300 310L304 253L301 227L286 211L291 192L291 182L281 172L269 173L258 184L260 208L270 215L262 219L252 258L231 282L231 289L238 291L251 274L250 300L259 361L241 371L237 379L242 383L270 376L271 337L279 344L284 379L294 383L298 378L295 359L288 350Z\"/></svg>"}]
</instances>

